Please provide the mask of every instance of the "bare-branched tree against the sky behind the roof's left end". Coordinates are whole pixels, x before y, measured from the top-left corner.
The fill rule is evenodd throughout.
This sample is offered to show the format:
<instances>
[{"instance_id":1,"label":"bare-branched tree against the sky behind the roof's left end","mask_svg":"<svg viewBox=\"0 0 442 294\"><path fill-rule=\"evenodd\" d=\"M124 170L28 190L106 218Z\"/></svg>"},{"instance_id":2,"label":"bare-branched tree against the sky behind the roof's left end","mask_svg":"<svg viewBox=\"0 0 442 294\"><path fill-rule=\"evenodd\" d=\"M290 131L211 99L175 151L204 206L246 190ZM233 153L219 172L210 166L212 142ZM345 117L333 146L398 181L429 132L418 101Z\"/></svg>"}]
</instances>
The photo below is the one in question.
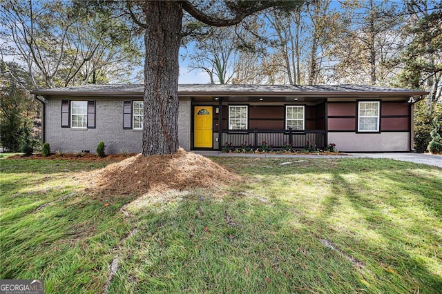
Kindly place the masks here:
<instances>
[{"instance_id":1,"label":"bare-branched tree against the sky behind the roof's left end","mask_svg":"<svg viewBox=\"0 0 442 294\"><path fill-rule=\"evenodd\" d=\"M39 88L72 86L123 77L140 64L140 43L130 23L61 1L6 0L0 25L3 56L26 65ZM95 77L95 79L94 79Z\"/></svg>"}]
</instances>

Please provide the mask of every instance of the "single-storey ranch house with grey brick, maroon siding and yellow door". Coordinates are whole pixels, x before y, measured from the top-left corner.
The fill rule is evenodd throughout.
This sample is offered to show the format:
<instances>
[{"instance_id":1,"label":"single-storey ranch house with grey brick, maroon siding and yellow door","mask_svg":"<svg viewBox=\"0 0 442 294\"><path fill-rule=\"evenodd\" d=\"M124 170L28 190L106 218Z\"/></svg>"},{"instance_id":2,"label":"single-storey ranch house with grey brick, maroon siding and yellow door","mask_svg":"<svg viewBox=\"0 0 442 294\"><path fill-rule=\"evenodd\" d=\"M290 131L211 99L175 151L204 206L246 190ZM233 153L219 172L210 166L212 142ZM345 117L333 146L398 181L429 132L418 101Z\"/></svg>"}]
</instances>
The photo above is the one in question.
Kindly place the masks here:
<instances>
[{"instance_id":1,"label":"single-storey ranch house with grey brick, maroon siding and yellow door","mask_svg":"<svg viewBox=\"0 0 442 294\"><path fill-rule=\"evenodd\" d=\"M43 137L52 150L140 153L143 85L33 90L43 104ZM413 150L413 108L427 92L374 86L178 86L178 140L184 150L231 146L318 148L343 152Z\"/></svg>"}]
</instances>

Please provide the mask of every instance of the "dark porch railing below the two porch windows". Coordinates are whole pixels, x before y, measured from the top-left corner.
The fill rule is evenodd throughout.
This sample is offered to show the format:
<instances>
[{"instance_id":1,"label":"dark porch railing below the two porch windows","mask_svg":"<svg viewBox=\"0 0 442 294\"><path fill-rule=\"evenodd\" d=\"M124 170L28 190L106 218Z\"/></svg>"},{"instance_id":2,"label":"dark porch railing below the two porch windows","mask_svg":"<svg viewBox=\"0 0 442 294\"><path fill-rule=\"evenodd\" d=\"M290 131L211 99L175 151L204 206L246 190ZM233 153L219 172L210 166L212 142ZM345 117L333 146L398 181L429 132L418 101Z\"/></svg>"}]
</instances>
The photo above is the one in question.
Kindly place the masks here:
<instances>
[{"instance_id":1,"label":"dark porch railing below the two porch windows","mask_svg":"<svg viewBox=\"0 0 442 294\"><path fill-rule=\"evenodd\" d=\"M266 142L271 148L283 148L291 145L293 148L305 148L307 141L325 148L325 130L222 130L220 148L231 144L232 147L252 146L258 148Z\"/></svg>"}]
</instances>

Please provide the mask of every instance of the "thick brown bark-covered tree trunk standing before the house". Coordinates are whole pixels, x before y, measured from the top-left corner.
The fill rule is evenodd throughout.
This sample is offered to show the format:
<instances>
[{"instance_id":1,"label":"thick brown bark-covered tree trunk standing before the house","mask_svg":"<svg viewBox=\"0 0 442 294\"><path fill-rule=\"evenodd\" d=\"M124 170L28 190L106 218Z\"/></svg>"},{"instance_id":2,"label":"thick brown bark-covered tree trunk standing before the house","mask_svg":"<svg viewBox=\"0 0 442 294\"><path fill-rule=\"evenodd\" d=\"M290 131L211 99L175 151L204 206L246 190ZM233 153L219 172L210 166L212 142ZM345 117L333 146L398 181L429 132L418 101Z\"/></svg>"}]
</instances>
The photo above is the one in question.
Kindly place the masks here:
<instances>
[{"instance_id":1,"label":"thick brown bark-covered tree trunk standing before the house","mask_svg":"<svg viewBox=\"0 0 442 294\"><path fill-rule=\"evenodd\" d=\"M146 1L143 155L173 154L178 148L178 50L182 3Z\"/></svg>"}]
</instances>

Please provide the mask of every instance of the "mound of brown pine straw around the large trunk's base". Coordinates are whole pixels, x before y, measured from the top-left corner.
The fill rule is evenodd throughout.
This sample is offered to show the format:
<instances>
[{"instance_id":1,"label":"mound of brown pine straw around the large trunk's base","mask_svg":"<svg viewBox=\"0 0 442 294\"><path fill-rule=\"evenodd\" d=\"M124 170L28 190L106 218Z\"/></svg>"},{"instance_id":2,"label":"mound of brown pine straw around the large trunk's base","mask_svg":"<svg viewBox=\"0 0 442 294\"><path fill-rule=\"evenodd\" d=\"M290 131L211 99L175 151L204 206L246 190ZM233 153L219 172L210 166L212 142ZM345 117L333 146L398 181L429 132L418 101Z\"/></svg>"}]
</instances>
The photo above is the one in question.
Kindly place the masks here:
<instances>
[{"instance_id":1,"label":"mound of brown pine straw around the large trunk's base","mask_svg":"<svg viewBox=\"0 0 442 294\"><path fill-rule=\"evenodd\" d=\"M174 155L130 157L95 170L84 178L94 190L106 194L211 188L240 179L239 175L210 159L182 148Z\"/></svg>"}]
</instances>

